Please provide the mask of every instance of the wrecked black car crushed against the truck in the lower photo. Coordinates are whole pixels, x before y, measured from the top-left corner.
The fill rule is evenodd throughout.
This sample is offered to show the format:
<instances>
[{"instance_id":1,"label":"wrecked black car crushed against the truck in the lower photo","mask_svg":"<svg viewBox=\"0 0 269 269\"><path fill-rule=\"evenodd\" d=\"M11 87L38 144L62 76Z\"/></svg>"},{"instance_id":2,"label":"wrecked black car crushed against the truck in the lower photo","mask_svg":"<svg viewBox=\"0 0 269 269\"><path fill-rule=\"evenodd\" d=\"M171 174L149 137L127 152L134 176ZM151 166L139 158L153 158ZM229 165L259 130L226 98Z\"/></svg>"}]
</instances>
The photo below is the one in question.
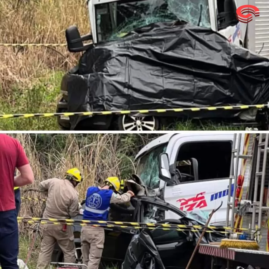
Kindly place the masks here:
<instances>
[{"instance_id":1,"label":"wrecked black car crushed against the truck in the lower photo","mask_svg":"<svg viewBox=\"0 0 269 269\"><path fill-rule=\"evenodd\" d=\"M137 184L138 181L140 181L140 179L136 175L133 175L131 180L126 181L126 189L132 189L136 193L136 197L132 198L131 203L127 206L111 204L109 221L186 225L205 224L206 219L192 213L185 213L177 207L156 198L155 195L146 190L145 187L141 188L141 185ZM143 196L140 196L141 194L143 194ZM85 208L85 202L82 202L82 209L83 208ZM75 219L82 219L82 216L77 216ZM74 225L73 227L77 247L77 263L82 263L80 250L81 226ZM224 237L224 234L218 233L218 231L224 230L222 227L219 227L219 229L215 230L213 233L206 233L202 242L219 241ZM106 268L106 266L111 265L117 265L118 268L122 265L123 269L147 268L134 267L134 263L147 262L151 257L150 255L154 253L154 255L160 255L160 259L165 267L185 268L198 237L201 235L201 231L162 230L157 227L152 230L144 228L141 232L141 230L132 227L106 227L105 234L106 239L101 259L101 268ZM141 244L141 240L143 244ZM136 249L133 249L135 246ZM158 253L156 253L156 250L153 254L150 253L150 251L154 251L154 248L158 250ZM193 261L195 267L191 268L205 268L204 262L207 262L205 257L206 256L200 256L200 254L197 253ZM137 261L136 259L141 260ZM62 261L63 253L56 244L52 262ZM161 269L161 267L153 267L152 269L157 268Z\"/></svg>"}]
</instances>

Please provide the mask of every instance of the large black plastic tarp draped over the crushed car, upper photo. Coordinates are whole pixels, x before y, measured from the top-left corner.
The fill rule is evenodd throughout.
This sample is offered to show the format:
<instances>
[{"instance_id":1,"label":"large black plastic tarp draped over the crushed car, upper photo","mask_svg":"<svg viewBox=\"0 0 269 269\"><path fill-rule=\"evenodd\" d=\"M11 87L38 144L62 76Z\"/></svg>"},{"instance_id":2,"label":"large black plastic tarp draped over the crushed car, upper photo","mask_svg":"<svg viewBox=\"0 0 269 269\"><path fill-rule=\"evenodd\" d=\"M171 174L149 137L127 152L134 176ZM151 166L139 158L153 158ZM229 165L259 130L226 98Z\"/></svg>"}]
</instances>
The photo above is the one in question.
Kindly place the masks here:
<instances>
[{"instance_id":1,"label":"large black plastic tarp draped over the crushed car, upper photo","mask_svg":"<svg viewBox=\"0 0 269 269\"><path fill-rule=\"evenodd\" d=\"M82 55L78 67L68 78L72 112L269 101L269 59L185 22L153 23L100 43ZM227 117L234 111L208 113ZM71 117L71 129L81 119Z\"/></svg>"}]
</instances>

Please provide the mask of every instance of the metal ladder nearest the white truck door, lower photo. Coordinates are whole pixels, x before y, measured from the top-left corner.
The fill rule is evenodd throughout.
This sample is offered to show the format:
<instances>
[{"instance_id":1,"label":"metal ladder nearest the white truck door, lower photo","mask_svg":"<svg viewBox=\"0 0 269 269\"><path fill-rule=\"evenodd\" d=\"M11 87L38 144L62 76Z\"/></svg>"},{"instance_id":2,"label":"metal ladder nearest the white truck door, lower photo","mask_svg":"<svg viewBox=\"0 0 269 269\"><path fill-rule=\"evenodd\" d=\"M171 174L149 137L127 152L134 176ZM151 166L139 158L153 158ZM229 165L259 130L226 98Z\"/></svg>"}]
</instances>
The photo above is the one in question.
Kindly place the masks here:
<instances>
[{"instance_id":1,"label":"metal ladder nearest the white truck door, lower photo","mask_svg":"<svg viewBox=\"0 0 269 269\"><path fill-rule=\"evenodd\" d=\"M238 135L238 141L236 141L237 135ZM228 201L227 201L227 213L226 213L226 227L229 227L230 209L232 210L232 212L231 212L231 225L230 225L232 230L234 228L237 178L238 178L238 175L240 172L240 171L238 171L239 170L239 159L251 159L253 156L253 155L240 154L241 140L242 140L242 134L235 133L233 135L233 146L232 146L229 189L228 189ZM234 159L236 159L235 167L234 167ZM230 202L233 180L234 180L233 199L232 199L232 202ZM227 234L228 234L228 232L227 232Z\"/></svg>"}]
</instances>

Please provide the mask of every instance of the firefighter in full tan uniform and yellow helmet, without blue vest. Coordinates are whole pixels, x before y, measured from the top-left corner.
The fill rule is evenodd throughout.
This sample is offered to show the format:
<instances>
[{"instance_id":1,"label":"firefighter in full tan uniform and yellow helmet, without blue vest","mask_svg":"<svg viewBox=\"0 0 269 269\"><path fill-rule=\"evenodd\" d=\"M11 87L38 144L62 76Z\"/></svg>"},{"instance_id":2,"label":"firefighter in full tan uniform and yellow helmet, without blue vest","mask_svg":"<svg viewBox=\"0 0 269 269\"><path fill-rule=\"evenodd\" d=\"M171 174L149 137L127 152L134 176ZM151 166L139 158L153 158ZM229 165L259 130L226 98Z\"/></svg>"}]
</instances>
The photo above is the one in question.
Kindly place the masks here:
<instances>
[{"instance_id":1,"label":"firefighter in full tan uniform and yellow helmet, without blue vest","mask_svg":"<svg viewBox=\"0 0 269 269\"><path fill-rule=\"evenodd\" d=\"M51 178L42 181L39 189L48 192L43 218L73 218L79 214L80 204L75 187L82 181L77 168L69 169L64 179ZM55 243L58 243L66 263L75 262L73 227L66 224L43 224L41 250L37 269L48 268Z\"/></svg>"}]
</instances>

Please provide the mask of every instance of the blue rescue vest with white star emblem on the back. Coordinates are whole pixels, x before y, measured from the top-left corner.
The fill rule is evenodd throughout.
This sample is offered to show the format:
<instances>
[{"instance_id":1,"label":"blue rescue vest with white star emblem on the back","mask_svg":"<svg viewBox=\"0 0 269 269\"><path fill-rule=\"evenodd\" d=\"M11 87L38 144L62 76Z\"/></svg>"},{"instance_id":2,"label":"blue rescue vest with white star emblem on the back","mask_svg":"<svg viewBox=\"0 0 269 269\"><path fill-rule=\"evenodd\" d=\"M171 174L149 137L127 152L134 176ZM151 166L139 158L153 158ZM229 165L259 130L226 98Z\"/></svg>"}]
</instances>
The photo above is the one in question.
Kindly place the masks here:
<instances>
[{"instance_id":1,"label":"blue rescue vest with white star emblem on the back","mask_svg":"<svg viewBox=\"0 0 269 269\"><path fill-rule=\"evenodd\" d=\"M107 221L112 194L113 191L111 189L89 187L86 194L83 219L92 221Z\"/></svg>"}]
</instances>

